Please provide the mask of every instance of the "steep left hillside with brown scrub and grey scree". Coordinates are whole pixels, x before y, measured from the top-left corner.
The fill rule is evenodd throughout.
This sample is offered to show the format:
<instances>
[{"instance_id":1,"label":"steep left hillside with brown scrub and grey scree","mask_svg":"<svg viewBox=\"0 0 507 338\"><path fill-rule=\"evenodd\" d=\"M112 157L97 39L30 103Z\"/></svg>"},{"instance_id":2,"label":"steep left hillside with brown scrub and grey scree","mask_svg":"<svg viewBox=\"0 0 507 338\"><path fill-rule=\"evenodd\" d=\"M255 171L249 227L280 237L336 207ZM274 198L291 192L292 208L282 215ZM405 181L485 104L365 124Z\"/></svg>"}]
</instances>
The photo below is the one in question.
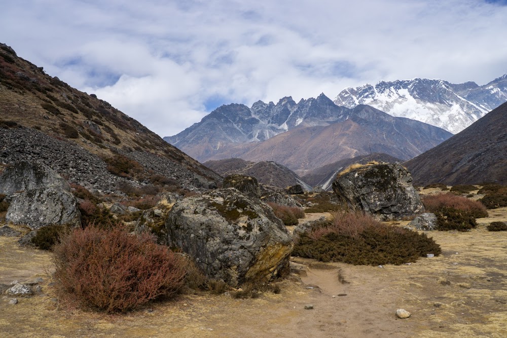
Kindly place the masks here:
<instances>
[{"instance_id":1,"label":"steep left hillside with brown scrub and grey scree","mask_svg":"<svg viewBox=\"0 0 507 338\"><path fill-rule=\"evenodd\" d=\"M42 160L69 181L103 191L119 177L104 160L139 165L136 179L151 175L187 187L206 186L220 176L171 146L111 104L71 88L42 67L0 44L0 161ZM122 176L122 175L120 175ZM125 176L125 175L123 175Z\"/></svg>"}]
</instances>

